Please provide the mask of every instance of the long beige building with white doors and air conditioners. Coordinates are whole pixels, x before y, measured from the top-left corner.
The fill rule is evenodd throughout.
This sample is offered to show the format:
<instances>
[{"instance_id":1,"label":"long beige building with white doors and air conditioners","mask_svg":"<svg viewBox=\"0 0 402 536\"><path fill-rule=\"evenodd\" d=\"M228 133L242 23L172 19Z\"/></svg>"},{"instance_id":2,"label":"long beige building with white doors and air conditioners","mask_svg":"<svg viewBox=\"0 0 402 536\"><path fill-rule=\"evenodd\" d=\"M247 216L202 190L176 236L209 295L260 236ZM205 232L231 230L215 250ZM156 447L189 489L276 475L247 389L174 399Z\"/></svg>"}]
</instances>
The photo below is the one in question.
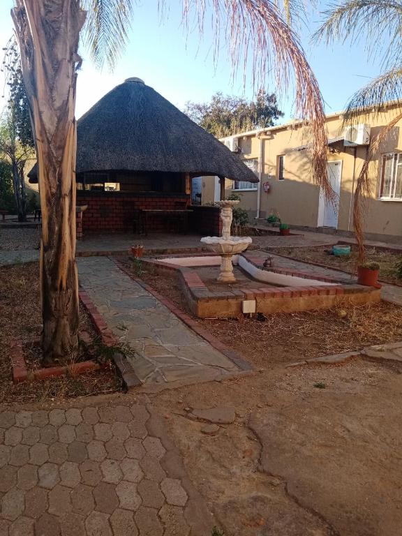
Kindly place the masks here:
<instances>
[{"instance_id":1,"label":"long beige building with white doors and air conditioners","mask_svg":"<svg viewBox=\"0 0 402 536\"><path fill-rule=\"evenodd\" d=\"M284 124L240 133L221 140L258 175L259 184L225 180L225 195L241 195L251 221L276 214L293 228L353 230L353 194L366 158L370 136L375 136L401 110L389 103L380 114L362 117L354 127L343 127L341 113L327 116L328 176L338 194L336 207L326 204L311 173L308 127ZM397 124L380 145L371 163L371 196L366 202L367 239L402 241L402 135ZM216 177L202 177L202 204L219 199Z\"/></svg>"}]
</instances>

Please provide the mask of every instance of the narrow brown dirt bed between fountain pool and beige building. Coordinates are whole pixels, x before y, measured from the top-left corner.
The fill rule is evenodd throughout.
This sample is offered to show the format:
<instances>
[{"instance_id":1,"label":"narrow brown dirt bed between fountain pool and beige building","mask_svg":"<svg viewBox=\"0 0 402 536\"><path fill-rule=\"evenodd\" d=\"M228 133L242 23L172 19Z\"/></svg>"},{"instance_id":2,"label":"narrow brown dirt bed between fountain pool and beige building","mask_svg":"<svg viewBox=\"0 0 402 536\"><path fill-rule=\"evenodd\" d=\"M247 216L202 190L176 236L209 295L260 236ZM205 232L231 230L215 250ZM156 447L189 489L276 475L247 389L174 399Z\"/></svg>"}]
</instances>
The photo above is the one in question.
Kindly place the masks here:
<instances>
[{"instance_id":1,"label":"narrow brown dirt bed between fountain pool and beige building","mask_svg":"<svg viewBox=\"0 0 402 536\"><path fill-rule=\"evenodd\" d=\"M350 255L344 257L336 257L329 255L329 246L318 246L310 248L269 248L271 253L279 253L280 255L288 255L297 260L306 260L310 262L318 262L329 267L339 268L343 271L348 271L352 274L357 274L357 251L352 246ZM402 254L388 253L380 251L376 248L367 248L366 257L368 261L378 262L380 265L380 279L396 285L402 285L402 279L398 277L396 271L396 262L402 260Z\"/></svg>"}]
</instances>

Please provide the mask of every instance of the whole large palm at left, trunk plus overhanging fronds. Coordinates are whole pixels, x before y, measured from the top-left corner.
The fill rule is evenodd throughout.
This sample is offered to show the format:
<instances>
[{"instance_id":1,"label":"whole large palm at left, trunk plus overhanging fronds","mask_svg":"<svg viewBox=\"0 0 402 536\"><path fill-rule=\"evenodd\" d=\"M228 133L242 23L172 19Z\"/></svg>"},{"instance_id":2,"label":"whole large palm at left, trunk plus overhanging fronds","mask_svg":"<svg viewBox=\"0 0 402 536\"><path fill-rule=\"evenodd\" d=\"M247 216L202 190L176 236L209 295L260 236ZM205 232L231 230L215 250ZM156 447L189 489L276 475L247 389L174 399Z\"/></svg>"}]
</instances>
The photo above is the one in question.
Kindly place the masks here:
<instances>
[{"instance_id":1,"label":"whole large palm at left, trunk plus overhanging fronds","mask_svg":"<svg viewBox=\"0 0 402 536\"><path fill-rule=\"evenodd\" d=\"M164 3L164 0L158 0ZM195 10L202 34L204 0L182 0L184 19ZM284 0L288 20L299 0ZM216 51L225 36L234 70L253 65L260 82L268 68L282 88L295 82L295 112L313 135L313 176L329 196L325 115L317 81L274 0L213 0ZM75 87L80 32L98 66L115 63L128 38L133 0L15 0L12 17L36 139L42 207L40 289L43 355L51 362L77 348L78 285L75 265ZM243 62L241 62L243 65Z\"/></svg>"}]
</instances>

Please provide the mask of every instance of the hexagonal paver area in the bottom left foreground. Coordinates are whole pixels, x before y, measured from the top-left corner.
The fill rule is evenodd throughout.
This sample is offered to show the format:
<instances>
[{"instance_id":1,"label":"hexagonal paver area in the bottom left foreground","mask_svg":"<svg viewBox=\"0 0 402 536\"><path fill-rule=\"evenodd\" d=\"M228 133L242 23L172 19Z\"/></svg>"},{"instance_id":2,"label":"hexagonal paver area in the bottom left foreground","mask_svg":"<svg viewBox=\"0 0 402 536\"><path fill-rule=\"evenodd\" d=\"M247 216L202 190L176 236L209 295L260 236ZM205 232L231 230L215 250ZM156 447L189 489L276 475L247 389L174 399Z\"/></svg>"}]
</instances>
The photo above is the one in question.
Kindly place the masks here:
<instances>
[{"instance_id":1,"label":"hexagonal paver area in the bottom left foreground","mask_svg":"<svg viewBox=\"0 0 402 536\"><path fill-rule=\"evenodd\" d=\"M159 417L129 395L91 404L0 413L0 535L209 536Z\"/></svg>"}]
</instances>

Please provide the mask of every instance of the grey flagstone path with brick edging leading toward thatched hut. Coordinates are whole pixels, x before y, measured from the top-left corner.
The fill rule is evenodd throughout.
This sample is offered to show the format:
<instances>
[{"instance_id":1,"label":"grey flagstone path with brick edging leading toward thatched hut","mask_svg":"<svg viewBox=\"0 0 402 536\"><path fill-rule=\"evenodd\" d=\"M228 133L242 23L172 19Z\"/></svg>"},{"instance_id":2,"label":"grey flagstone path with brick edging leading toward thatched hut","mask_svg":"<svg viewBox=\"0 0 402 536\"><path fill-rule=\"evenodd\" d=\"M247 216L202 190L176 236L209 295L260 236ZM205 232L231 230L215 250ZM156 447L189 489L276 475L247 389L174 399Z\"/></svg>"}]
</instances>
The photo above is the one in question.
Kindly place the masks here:
<instances>
[{"instance_id":1,"label":"grey flagstone path with brick edging leading toward thatched hut","mask_svg":"<svg viewBox=\"0 0 402 536\"><path fill-rule=\"evenodd\" d=\"M80 285L118 340L130 347L135 373L149 390L221 380L240 368L195 334L106 257L77 260Z\"/></svg>"}]
</instances>

